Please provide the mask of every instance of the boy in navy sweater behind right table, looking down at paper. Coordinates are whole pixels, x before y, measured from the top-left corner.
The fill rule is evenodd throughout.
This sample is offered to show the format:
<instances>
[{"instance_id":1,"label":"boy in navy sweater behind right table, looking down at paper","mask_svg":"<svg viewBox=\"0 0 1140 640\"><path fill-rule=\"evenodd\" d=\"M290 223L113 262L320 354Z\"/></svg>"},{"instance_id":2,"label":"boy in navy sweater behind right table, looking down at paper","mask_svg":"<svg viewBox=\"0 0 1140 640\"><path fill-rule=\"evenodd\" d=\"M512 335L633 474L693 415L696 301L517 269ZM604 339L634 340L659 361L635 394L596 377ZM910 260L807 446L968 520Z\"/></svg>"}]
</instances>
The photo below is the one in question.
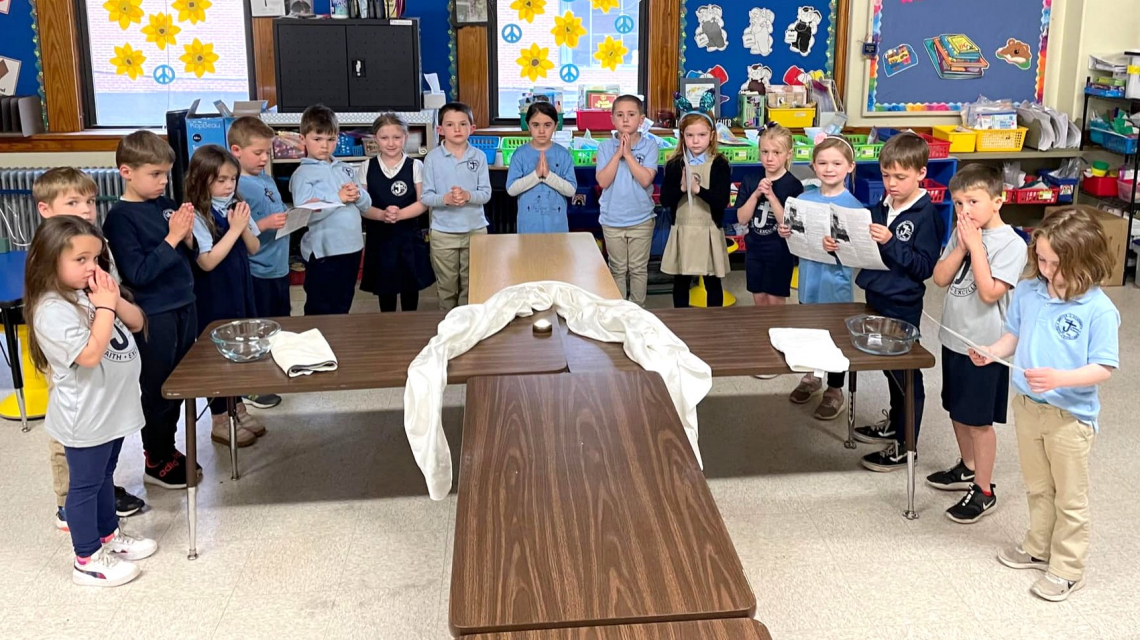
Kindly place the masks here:
<instances>
[{"instance_id":1,"label":"boy in navy sweater behind right table, looking down at paper","mask_svg":"<svg viewBox=\"0 0 1140 640\"><path fill-rule=\"evenodd\" d=\"M931 275L942 252L946 224L938 216L926 189L926 165L930 149L926 140L905 132L887 140L879 154L882 183L887 194L871 208L871 237L879 243L879 254L887 270L863 269L855 284L866 291L866 303L877 313L919 326L922 319L923 284ZM855 430L855 439L881 443L882 451L863 456L863 467L871 471L894 471L906 467L906 413L903 372L886 371L890 390L887 419ZM918 443L926 391L922 372L914 372L914 441Z\"/></svg>"}]
</instances>

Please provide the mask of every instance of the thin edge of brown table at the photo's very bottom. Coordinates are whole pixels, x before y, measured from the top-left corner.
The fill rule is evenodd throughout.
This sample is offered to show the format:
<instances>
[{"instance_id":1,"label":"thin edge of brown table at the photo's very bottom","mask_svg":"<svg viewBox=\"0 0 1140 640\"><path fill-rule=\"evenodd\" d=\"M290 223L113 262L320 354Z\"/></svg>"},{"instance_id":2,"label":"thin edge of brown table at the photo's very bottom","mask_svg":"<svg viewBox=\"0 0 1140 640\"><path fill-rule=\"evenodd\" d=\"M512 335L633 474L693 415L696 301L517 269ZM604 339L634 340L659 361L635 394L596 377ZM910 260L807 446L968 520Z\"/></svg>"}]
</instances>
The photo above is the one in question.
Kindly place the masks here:
<instances>
[{"instance_id":1,"label":"thin edge of brown table at the photo's very bottom","mask_svg":"<svg viewBox=\"0 0 1140 640\"><path fill-rule=\"evenodd\" d=\"M577 626L469 635L470 640L772 640L759 621L750 618Z\"/></svg>"}]
</instances>

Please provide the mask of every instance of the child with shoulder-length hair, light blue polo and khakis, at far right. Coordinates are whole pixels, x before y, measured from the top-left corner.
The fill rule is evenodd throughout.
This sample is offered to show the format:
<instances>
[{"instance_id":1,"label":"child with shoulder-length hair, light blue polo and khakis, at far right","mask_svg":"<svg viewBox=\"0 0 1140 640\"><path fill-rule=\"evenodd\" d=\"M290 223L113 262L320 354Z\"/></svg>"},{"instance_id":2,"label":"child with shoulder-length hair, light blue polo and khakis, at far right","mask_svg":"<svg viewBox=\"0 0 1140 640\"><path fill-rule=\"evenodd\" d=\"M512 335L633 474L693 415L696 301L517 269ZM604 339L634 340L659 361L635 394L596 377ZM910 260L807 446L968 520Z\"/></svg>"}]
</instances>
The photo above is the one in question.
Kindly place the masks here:
<instances>
[{"instance_id":1,"label":"child with shoulder-length hair, light blue polo and khakis, at far right","mask_svg":"<svg viewBox=\"0 0 1140 640\"><path fill-rule=\"evenodd\" d=\"M1097 386L1119 366L1121 315L1097 283L1113 270L1100 222L1083 209L1044 219L1029 245L1029 280L1013 291L1005 334L987 350L1013 356L1017 447L1029 499L1020 545L997 554L1015 569L1045 570L1031 592L1059 602L1084 586L1089 557L1089 451ZM991 362L971 349L977 365Z\"/></svg>"}]
</instances>

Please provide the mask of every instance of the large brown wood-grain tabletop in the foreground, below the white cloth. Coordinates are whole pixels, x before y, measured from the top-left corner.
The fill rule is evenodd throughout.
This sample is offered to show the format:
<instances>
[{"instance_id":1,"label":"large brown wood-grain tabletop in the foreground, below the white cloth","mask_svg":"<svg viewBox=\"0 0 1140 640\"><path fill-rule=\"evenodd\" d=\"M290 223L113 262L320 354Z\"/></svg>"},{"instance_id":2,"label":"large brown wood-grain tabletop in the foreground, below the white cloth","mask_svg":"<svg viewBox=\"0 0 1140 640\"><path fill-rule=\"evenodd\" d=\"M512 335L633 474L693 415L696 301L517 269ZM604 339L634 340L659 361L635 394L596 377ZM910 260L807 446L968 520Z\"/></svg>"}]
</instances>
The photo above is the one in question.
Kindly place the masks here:
<instances>
[{"instance_id":1,"label":"large brown wood-grain tabletop in the foreground, below the white cloth","mask_svg":"<svg viewBox=\"0 0 1140 640\"><path fill-rule=\"evenodd\" d=\"M755 611L656 373L472 379L461 456L453 633Z\"/></svg>"}]
</instances>

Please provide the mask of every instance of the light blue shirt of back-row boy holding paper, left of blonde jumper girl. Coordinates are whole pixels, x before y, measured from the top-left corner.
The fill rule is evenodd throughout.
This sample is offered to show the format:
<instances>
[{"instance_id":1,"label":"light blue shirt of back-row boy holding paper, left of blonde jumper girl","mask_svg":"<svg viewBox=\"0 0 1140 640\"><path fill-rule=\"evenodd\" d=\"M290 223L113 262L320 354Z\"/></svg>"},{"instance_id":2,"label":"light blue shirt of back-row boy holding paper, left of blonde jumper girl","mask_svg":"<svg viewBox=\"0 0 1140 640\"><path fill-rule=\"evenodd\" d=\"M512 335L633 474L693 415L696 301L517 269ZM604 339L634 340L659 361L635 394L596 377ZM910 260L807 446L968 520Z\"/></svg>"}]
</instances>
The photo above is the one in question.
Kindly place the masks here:
<instances>
[{"instance_id":1,"label":"light blue shirt of back-row boy holding paper, left of blonde jumper girl","mask_svg":"<svg viewBox=\"0 0 1140 640\"><path fill-rule=\"evenodd\" d=\"M301 256L327 258L329 256L347 256L364 249L364 230L360 226L360 213L372 206L368 191L360 186L356 169L336 160L331 162L301 159L301 165L293 172L288 181L288 191L293 194L293 203L301 204L312 199L320 202L340 202L341 186L356 183L360 188L360 199L351 204L335 209L314 211L309 218L309 230L301 238Z\"/></svg>"}]
</instances>

